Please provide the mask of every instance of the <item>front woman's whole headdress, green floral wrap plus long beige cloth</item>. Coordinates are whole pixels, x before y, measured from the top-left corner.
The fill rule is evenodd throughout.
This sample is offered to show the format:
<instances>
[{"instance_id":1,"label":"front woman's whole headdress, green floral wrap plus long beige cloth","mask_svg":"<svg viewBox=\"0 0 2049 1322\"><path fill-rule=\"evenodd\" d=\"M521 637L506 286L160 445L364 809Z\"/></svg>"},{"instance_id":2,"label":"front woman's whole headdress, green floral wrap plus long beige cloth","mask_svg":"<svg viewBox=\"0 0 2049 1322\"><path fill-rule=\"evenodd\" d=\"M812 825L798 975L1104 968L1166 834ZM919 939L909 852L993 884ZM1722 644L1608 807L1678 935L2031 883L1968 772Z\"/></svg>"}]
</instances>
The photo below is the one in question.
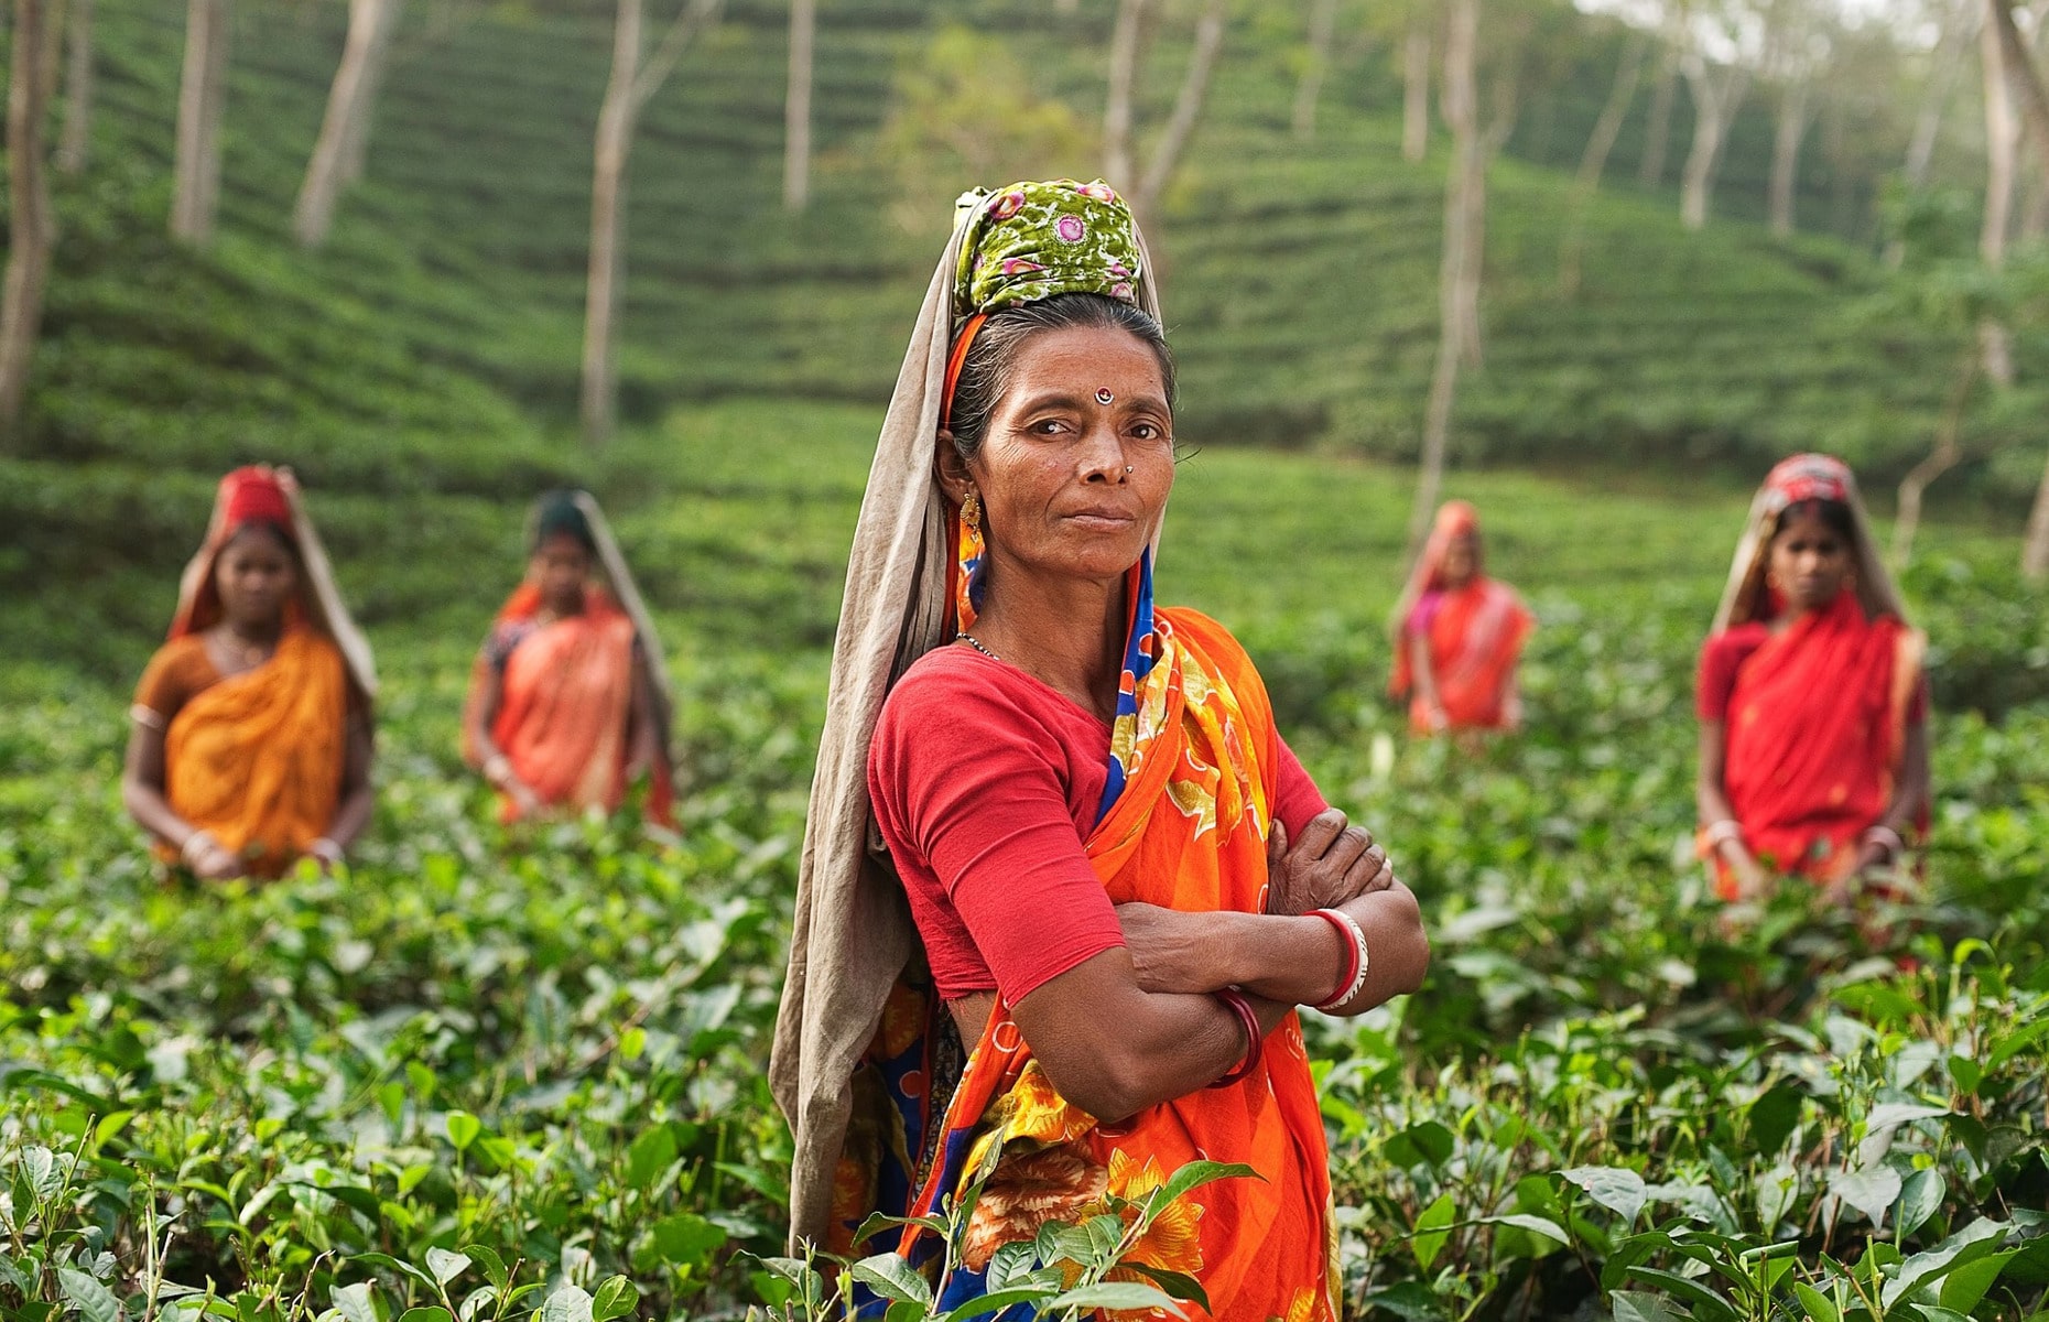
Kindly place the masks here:
<instances>
[{"instance_id":1,"label":"front woman's whole headdress, green floral wrap plus long beige cloth","mask_svg":"<svg viewBox=\"0 0 2049 1322\"><path fill-rule=\"evenodd\" d=\"M1131 301L1158 320L1149 273L1145 240L1117 193L1100 180L1053 180L963 195L926 285L848 555L768 1062L768 1084L795 1133L793 1244L826 1238L852 1113L848 1080L918 949L869 810L867 760L889 687L949 642L965 598L963 521L934 469L953 381L981 318L1000 307L1080 291Z\"/></svg>"}]
</instances>

